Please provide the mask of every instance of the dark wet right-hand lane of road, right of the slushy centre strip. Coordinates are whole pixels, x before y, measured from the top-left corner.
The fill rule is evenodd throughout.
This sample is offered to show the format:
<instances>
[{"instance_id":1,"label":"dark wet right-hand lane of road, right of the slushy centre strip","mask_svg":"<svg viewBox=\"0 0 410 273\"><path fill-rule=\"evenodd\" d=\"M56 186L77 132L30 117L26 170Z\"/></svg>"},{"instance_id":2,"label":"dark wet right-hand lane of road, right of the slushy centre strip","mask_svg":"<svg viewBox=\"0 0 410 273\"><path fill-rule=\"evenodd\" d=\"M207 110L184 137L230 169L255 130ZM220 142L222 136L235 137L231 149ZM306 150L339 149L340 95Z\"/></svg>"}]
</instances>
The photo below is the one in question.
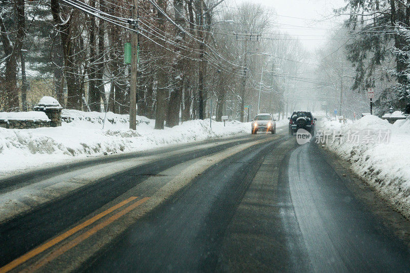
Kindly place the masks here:
<instances>
[{"instance_id":1,"label":"dark wet right-hand lane of road, right of the slushy centre strip","mask_svg":"<svg viewBox=\"0 0 410 273\"><path fill-rule=\"evenodd\" d=\"M343 183L314 143L283 137L207 171L86 271L408 271L408 249Z\"/></svg>"}]
</instances>

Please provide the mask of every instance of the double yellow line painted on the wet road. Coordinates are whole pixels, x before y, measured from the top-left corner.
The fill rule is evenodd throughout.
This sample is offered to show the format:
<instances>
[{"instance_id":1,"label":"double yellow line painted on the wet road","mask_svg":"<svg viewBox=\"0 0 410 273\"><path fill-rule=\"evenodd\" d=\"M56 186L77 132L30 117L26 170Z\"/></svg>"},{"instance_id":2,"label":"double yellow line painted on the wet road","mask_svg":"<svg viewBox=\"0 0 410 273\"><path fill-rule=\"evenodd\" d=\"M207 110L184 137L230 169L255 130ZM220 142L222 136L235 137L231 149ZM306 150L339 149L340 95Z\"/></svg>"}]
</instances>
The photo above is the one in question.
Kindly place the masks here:
<instances>
[{"instance_id":1,"label":"double yellow line painted on the wet road","mask_svg":"<svg viewBox=\"0 0 410 273\"><path fill-rule=\"evenodd\" d=\"M88 219L87 221L71 228L70 230L68 230L67 232L55 237L54 239L37 246L36 248L30 250L28 253L24 254L23 256L20 256L19 258L11 261L10 263L4 265L3 267L0 268L0 273L4 273L7 271L10 271L11 269L19 266L20 264L23 264L24 262L28 261L29 259L35 257L36 255L42 253L43 251L49 249L50 247L58 244L59 242L67 239L68 237L70 237L71 235L77 233L79 230L91 225L92 223L94 223L95 221L103 218L104 216L112 213L113 211L115 211L116 209L130 203L131 201L137 199L138 197L130 197L110 208L108 208L106 211L97 214L96 216ZM79 244L80 242L86 240L87 238L89 238L91 235L95 234L96 232L98 232L98 230L106 227L107 225L111 224L112 222L114 222L115 220L117 220L118 218L120 218L121 216L124 216L125 214L129 213L130 211L132 211L134 208L136 208L137 206L139 206L140 204L144 203L145 201L147 201L148 199L150 199L149 197L145 197L142 198L138 201L136 201L135 203L125 207L124 209L122 209L121 211L119 211L118 213L114 214L113 216L111 216L110 218L108 218L107 220L105 220L104 222L99 223L98 225L94 226L93 228L91 228L90 230L88 230L87 232L81 234L80 236L74 238L73 240L69 241L68 243L62 245L61 247L59 247L58 249L56 249L55 251L53 251L49 256L45 257L42 260L39 260L37 263L35 263L33 266L30 267L30 271L34 271L40 267L42 267L43 265L45 265L46 263L54 260L55 258L57 258L58 256L60 256L61 254L64 254L66 251L68 251L69 249L73 248L74 246L76 246L77 244Z\"/></svg>"}]
</instances>

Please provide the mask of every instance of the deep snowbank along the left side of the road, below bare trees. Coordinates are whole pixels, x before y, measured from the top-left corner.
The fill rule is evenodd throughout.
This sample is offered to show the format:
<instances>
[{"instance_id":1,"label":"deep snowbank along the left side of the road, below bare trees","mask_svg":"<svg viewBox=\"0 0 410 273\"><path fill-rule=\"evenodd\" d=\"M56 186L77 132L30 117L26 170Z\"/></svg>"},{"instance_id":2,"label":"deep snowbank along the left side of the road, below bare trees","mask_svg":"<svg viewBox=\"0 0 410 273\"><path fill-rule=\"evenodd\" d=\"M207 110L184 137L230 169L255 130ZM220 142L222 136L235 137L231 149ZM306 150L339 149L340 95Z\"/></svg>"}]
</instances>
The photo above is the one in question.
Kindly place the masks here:
<instances>
[{"instance_id":1,"label":"deep snowbank along the left side of the road, below bare trees","mask_svg":"<svg viewBox=\"0 0 410 273\"><path fill-rule=\"evenodd\" d=\"M34 113L39 112L20 115L27 118ZM212 121L210 128L209 119L154 130L155 121L142 116L137 116L137 130L132 131L128 129L128 115L111 112L107 113L103 129L104 113L63 110L62 116L65 122L57 128L0 128L0 176L88 156L138 152L169 144L250 134L251 131L250 123L238 121L226 122L226 127L223 122Z\"/></svg>"}]
</instances>

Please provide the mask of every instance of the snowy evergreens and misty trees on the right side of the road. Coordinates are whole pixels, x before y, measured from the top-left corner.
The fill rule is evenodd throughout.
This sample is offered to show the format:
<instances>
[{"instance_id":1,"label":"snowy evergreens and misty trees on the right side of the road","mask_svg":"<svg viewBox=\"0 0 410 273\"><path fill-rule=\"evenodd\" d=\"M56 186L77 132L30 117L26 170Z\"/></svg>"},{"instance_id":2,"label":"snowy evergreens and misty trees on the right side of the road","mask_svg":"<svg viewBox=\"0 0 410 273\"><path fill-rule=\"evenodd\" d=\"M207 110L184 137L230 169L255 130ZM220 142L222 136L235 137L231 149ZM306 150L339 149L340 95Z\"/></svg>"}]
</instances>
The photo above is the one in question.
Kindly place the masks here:
<instances>
[{"instance_id":1,"label":"snowy evergreens and misty trees on the right side of the road","mask_svg":"<svg viewBox=\"0 0 410 273\"><path fill-rule=\"evenodd\" d=\"M372 88L376 114L390 107L409 112L410 1L346 2L335 10L336 15L346 17L344 24L330 32L329 43L317 52L317 77L329 79L322 90L330 97L330 109L369 112L366 90Z\"/></svg>"}]
</instances>

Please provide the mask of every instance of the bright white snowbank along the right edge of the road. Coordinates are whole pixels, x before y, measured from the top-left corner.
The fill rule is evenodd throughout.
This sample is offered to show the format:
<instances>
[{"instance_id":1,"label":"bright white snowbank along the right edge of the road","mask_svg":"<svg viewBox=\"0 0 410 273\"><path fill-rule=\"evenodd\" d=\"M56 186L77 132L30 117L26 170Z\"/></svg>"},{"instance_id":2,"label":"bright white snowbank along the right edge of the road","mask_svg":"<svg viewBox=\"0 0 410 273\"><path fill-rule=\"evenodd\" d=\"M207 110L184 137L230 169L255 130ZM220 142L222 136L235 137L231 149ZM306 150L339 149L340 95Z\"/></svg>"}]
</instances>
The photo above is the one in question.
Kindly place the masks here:
<instances>
[{"instance_id":1,"label":"bright white snowbank along the right edge of the road","mask_svg":"<svg viewBox=\"0 0 410 273\"><path fill-rule=\"evenodd\" d=\"M367 115L346 124L323 119L321 126L331 134L326 148L351 162L356 174L410 219L410 120L390 124Z\"/></svg>"}]
</instances>

